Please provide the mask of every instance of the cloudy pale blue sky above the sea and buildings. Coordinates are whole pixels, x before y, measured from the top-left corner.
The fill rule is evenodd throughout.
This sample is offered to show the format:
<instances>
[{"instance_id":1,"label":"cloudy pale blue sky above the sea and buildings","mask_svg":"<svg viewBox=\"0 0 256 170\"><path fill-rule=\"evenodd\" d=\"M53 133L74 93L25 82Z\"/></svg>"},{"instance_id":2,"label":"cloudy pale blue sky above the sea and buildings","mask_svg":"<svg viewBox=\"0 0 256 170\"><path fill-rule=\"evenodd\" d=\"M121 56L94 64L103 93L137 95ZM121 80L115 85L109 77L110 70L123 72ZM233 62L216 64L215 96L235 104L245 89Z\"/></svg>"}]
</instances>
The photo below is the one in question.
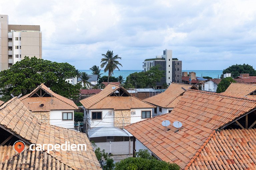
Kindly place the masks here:
<instances>
[{"instance_id":1,"label":"cloudy pale blue sky above the sea and buildings","mask_svg":"<svg viewBox=\"0 0 256 170\"><path fill-rule=\"evenodd\" d=\"M255 0L4 0L9 24L40 25L43 59L76 69L113 50L125 70L173 50L183 70L256 68Z\"/></svg>"}]
</instances>

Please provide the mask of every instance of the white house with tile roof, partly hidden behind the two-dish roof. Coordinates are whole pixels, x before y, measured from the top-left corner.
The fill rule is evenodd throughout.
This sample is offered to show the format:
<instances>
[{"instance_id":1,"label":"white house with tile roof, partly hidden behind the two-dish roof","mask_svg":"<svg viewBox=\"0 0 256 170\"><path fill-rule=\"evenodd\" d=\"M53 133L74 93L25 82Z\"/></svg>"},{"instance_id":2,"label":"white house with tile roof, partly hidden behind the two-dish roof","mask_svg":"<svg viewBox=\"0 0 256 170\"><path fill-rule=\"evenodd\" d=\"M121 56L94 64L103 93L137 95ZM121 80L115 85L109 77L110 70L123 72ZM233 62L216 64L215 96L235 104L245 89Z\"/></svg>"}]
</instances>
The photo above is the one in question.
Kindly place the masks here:
<instances>
[{"instance_id":1,"label":"white house with tile roof, partly hidden behind the two-dish roof","mask_svg":"<svg viewBox=\"0 0 256 170\"><path fill-rule=\"evenodd\" d=\"M193 85L171 83L163 93L146 98L144 101L156 106L153 117L170 113L179 102L182 94L188 89L197 90Z\"/></svg>"}]
</instances>

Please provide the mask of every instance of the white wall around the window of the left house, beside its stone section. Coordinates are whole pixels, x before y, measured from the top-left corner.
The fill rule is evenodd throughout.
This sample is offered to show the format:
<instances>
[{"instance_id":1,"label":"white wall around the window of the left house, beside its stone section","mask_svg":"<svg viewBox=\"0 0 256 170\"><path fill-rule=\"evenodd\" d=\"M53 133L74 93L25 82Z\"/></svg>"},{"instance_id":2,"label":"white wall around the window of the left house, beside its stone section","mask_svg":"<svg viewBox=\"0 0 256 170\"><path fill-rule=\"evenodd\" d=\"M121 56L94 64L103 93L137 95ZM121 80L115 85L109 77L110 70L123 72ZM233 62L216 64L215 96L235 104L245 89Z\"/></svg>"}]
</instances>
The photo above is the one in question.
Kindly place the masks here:
<instances>
[{"instance_id":1,"label":"white wall around the window of the left house, beside its stone section","mask_svg":"<svg viewBox=\"0 0 256 170\"><path fill-rule=\"evenodd\" d=\"M72 112L73 120L63 121L62 112ZM74 110L51 110L50 111L50 124L63 127L63 128L74 128Z\"/></svg>"}]
</instances>

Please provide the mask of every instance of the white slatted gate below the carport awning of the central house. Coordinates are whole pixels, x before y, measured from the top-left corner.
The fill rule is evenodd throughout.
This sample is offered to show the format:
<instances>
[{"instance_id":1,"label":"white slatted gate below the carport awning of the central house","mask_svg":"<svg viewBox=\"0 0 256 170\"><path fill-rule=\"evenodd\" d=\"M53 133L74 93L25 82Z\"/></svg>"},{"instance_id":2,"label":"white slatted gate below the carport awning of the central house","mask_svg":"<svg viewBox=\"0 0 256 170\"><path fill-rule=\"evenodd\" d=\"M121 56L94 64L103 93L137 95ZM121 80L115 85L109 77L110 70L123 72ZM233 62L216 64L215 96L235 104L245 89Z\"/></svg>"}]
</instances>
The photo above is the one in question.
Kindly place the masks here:
<instances>
[{"instance_id":1,"label":"white slatted gate below the carport awning of the central house","mask_svg":"<svg viewBox=\"0 0 256 170\"><path fill-rule=\"evenodd\" d=\"M100 150L105 149L105 152L113 155L128 155L133 153L133 141L131 141L131 149L129 153L129 141L119 142L97 142L95 143ZM96 148L94 148L95 150Z\"/></svg>"}]
</instances>

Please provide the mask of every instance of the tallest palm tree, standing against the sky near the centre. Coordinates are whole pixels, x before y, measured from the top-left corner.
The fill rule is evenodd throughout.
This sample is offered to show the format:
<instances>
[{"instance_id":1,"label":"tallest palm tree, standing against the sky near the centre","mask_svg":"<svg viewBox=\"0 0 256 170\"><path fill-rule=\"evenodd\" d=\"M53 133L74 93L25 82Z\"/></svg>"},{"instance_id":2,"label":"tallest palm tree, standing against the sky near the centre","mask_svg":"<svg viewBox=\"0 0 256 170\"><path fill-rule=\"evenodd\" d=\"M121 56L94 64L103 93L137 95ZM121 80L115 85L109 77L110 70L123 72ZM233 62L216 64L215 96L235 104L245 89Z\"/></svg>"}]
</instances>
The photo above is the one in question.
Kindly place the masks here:
<instances>
[{"instance_id":1,"label":"tallest palm tree, standing against the sky near the centre","mask_svg":"<svg viewBox=\"0 0 256 170\"><path fill-rule=\"evenodd\" d=\"M103 68L104 66L106 66L104 68L104 72L108 71L108 82L109 82L109 77L112 76L114 70L117 68L119 71L120 69L118 68L117 65L121 65L119 63L119 61L117 61L117 59L122 59L121 57L119 57L118 55L114 55L113 51L108 50L106 54L101 54L102 56L104 56L104 58L101 58L101 65L100 67Z\"/></svg>"}]
</instances>

